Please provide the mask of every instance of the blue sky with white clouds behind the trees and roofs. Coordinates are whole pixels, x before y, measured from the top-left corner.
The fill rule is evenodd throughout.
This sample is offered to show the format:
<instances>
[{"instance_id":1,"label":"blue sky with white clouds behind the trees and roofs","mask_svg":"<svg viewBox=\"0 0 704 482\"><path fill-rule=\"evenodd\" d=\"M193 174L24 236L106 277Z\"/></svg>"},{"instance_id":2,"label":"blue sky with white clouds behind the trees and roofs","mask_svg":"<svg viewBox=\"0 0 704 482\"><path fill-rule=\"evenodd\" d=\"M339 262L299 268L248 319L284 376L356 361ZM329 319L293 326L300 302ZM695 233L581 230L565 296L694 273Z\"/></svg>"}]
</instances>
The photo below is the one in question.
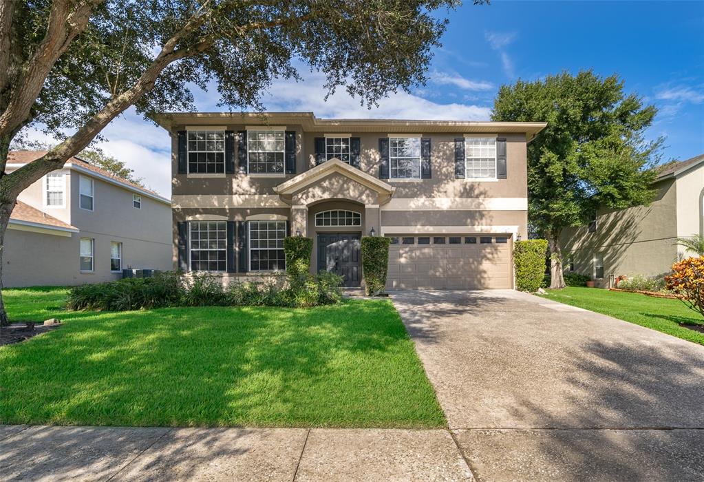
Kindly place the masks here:
<instances>
[{"instance_id":1,"label":"blue sky with white clouds behind the trees and roofs","mask_svg":"<svg viewBox=\"0 0 704 482\"><path fill-rule=\"evenodd\" d=\"M344 92L324 101L323 77L300 64L302 82L277 80L263 94L268 111L313 111L320 118L486 121L498 88L567 70L616 73L659 113L647 136L665 137L663 160L704 154L704 0L472 1L455 11L434 49L427 85L391 94L368 110ZM221 111L218 93L194 92L199 111ZM165 130L130 110L96 144L125 161L146 185L170 197ZM42 140L39 132L30 138Z\"/></svg>"}]
</instances>

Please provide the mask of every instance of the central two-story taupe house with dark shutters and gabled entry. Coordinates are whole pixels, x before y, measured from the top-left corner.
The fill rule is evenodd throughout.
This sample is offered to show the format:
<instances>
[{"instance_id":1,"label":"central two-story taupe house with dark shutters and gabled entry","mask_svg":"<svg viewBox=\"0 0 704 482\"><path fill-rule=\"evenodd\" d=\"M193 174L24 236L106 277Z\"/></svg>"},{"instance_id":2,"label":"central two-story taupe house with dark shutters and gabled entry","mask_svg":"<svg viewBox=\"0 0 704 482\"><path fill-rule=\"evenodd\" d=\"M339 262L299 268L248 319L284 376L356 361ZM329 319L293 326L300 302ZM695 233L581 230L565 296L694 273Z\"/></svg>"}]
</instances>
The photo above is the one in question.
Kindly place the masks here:
<instances>
[{"instance_id":1,"label":"central two-story taupe house with dark shutters and gabled entry","mask_svg":"<svg viewBox=\"0 0 704 482\"><path fill-rule=\"evenodd\" d=\"M324 120L313 113L164 113L175 267L224 280L285 268L363 282L360 237L391 237L389 289L513 288L527 235L526 144L545 123Z\"/></svg>"}]
</instances>

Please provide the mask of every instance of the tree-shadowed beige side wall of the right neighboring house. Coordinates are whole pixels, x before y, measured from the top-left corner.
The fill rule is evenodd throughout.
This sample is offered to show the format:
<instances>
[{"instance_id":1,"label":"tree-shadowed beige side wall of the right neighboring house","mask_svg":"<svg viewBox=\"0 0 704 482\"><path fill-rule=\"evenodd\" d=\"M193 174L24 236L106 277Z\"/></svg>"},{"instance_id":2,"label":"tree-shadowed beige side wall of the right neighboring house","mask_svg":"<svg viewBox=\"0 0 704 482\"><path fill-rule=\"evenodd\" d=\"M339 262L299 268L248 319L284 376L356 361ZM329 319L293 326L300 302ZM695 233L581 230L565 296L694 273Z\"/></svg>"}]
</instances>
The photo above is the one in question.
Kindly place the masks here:
<instances>
[{"instance_id":1,"label":"tree-shadowed beige side wall of the right neighboring house","mask_svg":"<svg viewBox=\"0 0 704 482\"><path fill-rule=\"evenodd\" d=\"M674 179L655 184L658 194L648 206L620 211L600 211L596 233L586 226L566 229L561 236L563 252L574 257L574 271L594 277L594 257L603 256L605 287L608 275L662 276L677 261L677 188Z\"/></svg>"}]
</instances>

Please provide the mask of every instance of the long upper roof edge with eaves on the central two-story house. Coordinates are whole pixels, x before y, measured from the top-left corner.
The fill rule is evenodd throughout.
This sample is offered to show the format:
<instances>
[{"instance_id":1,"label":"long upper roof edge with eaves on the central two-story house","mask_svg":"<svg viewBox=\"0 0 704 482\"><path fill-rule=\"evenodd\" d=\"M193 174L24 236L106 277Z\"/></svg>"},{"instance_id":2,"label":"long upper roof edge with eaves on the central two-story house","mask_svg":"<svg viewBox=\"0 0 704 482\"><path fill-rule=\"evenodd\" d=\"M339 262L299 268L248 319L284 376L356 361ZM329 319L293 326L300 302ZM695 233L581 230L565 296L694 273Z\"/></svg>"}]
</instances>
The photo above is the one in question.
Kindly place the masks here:
<instances>
[{"instance_id":1,"label":"long upper roof edge with eaves on the central two-story house","mask_svg":"<svg viewBox=\"0 0 704 482\"><path fill-rule=\"evenodd\" d=\"M422 121L401 119L322 119L313 112L163 112L154 116L154 121L166 130L177 125L222 125L222 123L249 123L251 125L300 124L309 132L458 132L458 133L524 133L529 139L543 130L544 122L489 122L489 121Z\"/></svg>"}]
</instances>

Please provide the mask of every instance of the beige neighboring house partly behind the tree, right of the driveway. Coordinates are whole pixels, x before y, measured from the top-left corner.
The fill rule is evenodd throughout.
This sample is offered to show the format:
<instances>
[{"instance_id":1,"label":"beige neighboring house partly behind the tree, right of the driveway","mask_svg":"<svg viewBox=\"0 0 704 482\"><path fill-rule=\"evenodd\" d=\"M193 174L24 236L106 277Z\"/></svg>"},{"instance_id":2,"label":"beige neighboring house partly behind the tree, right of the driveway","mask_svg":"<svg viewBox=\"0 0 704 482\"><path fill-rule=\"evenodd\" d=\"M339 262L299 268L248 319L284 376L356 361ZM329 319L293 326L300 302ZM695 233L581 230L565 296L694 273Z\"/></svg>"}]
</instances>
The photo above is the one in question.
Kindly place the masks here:
<instances>
[{"instance_id":1,"label":"beige neighboring house partly behind the tree, right of the driveway","mask_svg":"<svg viewBox=\"0 0 704 482\"><path fill-rule=\"evenodd\" d=\"M657 195L647 206L599 210L589 225L563 231L565 271L605 287L610 275L659 277L691 256L674 240L704 234L704 155L667 166L653 188Z\"/></svg>"}]
</instances>

